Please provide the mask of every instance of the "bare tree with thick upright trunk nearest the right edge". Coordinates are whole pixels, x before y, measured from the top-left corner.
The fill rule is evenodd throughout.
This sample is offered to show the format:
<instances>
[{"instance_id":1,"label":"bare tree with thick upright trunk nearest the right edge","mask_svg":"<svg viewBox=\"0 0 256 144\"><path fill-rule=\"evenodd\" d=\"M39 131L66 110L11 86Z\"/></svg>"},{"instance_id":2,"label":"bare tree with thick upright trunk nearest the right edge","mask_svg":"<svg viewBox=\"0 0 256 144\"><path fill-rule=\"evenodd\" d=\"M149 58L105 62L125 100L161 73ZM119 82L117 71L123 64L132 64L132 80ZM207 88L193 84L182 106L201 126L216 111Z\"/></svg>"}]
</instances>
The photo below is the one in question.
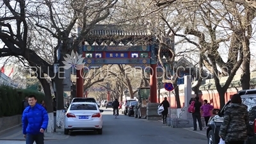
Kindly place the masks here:
<instances>
[{"instance_id":1,"label":"bare tree with thick upright trunk nearest the right edge","mask_svg":"<svg viewBox=\"0 0 256 144\"><path fill-rule=\"evenodd\" d=\"M236 1L234 1L236 2ZM246 1L244 4L226 2L223 3L225 10L229 13L229 17L236 17L237 26L232 24L232 19L226 18L228 25L232 31L235 31L237 38L241 41L243 46L243 63L241 69L243 71L241 75L241 86L243 90L250 89L250 39L253 36L253 19L256 17L255 7L246 3L252 4L252 2Z\"/></svg>"}]
</instances>

